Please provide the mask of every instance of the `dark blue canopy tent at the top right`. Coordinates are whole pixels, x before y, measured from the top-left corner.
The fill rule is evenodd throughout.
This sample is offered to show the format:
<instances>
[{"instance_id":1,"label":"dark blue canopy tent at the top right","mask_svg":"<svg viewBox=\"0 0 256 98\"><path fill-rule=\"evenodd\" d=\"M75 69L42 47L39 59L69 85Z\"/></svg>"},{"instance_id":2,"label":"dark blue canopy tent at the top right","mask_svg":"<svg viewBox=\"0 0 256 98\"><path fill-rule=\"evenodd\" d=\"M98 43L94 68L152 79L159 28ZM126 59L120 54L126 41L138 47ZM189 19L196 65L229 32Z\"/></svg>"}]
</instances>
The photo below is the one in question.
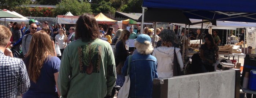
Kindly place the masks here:
<instances>
[{"instance_id":1,"label":"dark blue canopy tent at the top right","mask_svg":"<svg viewBox=\"0 0 256 98\"><path fill-rule=\"evenodd\" d=\"M143 28L144 18L146 19L147 17L144 15L145 9L148 9L146 11L148 12L156 8L181 10L183 14L189 19L202 19L208 20L208 22L216 22L215 20L256 22L255 0L143 0L142 16L139 19L142 21L141 28ZM162 12L162 15L170 14L175 15L175 13ZM161 18L162 15L159 15L159 18ZM157 22L154 20L152 21ZM189 25L198 23L203 23L203 21L197 23L189 23Z\"/></svg>"}]
</instances>

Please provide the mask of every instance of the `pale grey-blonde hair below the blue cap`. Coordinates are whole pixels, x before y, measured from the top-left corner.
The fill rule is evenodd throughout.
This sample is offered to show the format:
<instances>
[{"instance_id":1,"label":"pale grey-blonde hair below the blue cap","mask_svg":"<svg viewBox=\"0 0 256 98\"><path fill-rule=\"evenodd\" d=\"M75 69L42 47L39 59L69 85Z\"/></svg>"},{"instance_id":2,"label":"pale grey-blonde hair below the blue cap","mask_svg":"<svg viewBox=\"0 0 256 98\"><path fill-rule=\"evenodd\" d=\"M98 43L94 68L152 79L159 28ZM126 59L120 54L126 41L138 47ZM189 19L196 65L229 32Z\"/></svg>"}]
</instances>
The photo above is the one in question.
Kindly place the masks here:
<instances>
[{"instance_id":1,"label":"pale grey-blonde hair below the blue cap","mask_svg":"<svg viewBox=\"0 0 256 98\"><path fill-rule=\"evenodd\" d=\"M138 42L137 40L134 41L134 46L136 47L136 50L140 54L151 54L154 50L152 43L149 41L145 41L144 44Z\"/></svg>"}]
</instances>

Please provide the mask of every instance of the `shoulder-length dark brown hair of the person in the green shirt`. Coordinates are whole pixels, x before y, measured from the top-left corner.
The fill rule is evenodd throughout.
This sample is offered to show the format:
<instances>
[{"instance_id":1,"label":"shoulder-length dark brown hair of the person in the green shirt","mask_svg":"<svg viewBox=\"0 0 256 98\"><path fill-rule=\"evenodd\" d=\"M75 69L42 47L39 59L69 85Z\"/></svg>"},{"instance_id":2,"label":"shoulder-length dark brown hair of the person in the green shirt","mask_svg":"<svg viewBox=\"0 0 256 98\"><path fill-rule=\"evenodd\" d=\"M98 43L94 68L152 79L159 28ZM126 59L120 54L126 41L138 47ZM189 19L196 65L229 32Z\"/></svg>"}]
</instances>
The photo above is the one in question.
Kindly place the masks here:
<instances>
[{"instance_id":1,"label":"shoulder-length dark brown hair of the person in the green shirt","mask_svg":"<svg viewBox=\"0 0 256 98\"><path fill-rule=\"evenodd\" d=\"M99 37L99 26L92 14L79 16L75 27L75 39L81 38L83 42L89 42Z\"/></svg>"}]
</instances>

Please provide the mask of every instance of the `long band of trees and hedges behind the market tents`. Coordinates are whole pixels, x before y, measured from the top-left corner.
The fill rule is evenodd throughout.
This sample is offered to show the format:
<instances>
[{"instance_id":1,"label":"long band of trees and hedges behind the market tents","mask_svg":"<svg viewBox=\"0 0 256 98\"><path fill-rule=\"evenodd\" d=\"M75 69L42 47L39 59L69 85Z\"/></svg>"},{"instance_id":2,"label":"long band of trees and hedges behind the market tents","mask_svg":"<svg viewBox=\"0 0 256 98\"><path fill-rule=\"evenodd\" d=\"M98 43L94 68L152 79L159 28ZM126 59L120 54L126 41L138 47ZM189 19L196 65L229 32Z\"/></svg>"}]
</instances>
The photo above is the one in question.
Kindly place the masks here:
<instances>
[{"instance_id":1,"label":"long band of trees and hedges behind the market tents","mask_svg":"<svg viewBox=\"0 0 256 98\"><path fill-rule=\"evenodd\" d=\"M25 7L23 5L55 5L56 8ZM0 9L16 11L23 16L56 17L71 12L73 15L84 13L114 14L120 12L142 12L142 0L0 0ZM35 10L35 11L34 11Z\"/></svg>"}]
</instances>

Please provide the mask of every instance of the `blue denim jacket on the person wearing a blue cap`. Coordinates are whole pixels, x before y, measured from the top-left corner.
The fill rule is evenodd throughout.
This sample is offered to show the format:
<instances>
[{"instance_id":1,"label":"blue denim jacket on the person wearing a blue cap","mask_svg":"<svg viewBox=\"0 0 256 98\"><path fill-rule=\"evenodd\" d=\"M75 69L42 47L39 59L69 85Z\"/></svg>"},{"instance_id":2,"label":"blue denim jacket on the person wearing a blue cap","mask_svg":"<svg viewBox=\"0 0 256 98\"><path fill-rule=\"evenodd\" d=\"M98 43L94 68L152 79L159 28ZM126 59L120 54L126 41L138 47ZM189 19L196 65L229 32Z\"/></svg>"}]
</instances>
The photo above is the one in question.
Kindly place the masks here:
<instances>
[{"instance_id":1,"label":"blue denim jacket on the person wearing a blue cap","mask_svg":"<svg viewBox=\"0 0 256 98\"><path fill-rule=\"evenodd\" d=\"M122 75L126 76L128 59L122 69ZM148 54L134 54L130 62L130 91L129 98L152 98L153 78L158 78L156 57Z\"/></svg>"}]
</instances>

